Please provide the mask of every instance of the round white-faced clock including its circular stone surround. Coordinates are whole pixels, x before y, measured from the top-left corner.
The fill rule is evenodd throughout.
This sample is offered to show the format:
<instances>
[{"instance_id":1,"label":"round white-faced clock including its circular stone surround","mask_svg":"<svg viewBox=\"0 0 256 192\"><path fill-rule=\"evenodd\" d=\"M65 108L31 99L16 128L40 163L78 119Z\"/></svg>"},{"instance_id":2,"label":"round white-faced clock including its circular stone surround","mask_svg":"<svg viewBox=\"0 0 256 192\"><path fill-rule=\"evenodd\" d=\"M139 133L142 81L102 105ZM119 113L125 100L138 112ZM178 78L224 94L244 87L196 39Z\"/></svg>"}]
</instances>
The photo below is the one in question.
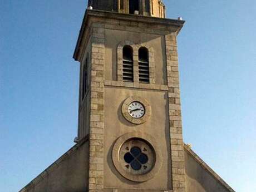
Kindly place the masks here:
<instances>
[{"instance_id":1,"label":"round white-faced clock including its circular stone surround","mask_svg":"<svg viewBox=\"0 0 256 192\"><path fill-rule=\"evenodd\" d=\"M151 107L143 97L131 96L122 104L122 115L132 124L144 124L151 116Z\"/></svg>"}]
</instances>

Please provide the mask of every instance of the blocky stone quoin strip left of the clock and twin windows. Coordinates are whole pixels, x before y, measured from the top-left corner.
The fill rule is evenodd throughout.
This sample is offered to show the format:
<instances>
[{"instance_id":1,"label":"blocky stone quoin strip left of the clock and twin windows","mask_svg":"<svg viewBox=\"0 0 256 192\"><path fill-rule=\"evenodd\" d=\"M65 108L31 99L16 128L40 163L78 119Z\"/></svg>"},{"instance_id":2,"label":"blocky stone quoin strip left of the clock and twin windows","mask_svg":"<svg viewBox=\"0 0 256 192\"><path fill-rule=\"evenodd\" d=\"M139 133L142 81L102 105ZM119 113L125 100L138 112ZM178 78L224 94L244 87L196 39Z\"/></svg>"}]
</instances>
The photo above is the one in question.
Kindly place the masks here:
<instances>
[{"instance_id":1,"label":"blocky stone quoin strip left of the clock and twin windows","mask_svg":"<svg viewBox=\"0 0 256 192\"><path fill-rule=\"evenodd\" d=\"M93 23L91 29L91 106L88 192L104 188L104 63L105 29Z\"/></svg>"}]
</instances>

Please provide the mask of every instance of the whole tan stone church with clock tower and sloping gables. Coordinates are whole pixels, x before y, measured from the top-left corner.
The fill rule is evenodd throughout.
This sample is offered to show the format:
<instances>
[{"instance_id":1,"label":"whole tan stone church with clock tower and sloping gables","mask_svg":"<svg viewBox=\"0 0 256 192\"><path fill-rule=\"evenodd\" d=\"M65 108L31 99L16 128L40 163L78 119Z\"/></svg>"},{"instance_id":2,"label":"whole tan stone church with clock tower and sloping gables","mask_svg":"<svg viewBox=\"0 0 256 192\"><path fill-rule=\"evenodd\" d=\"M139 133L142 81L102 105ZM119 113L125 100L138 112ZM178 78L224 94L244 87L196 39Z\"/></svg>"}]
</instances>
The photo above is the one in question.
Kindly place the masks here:
<instances>
[{"instance_id":1,"label":"whole tan stone church with clock tower and sloping gables","mask_svg":"<svg viewBox=\"0 0 256 192\"><path fill-rule=\"evenodd\" d=\"M161 0L88 1L76 145L20 192L234 192L183 142L185 22L165 12Z\"/></svg>"}]
</instances>

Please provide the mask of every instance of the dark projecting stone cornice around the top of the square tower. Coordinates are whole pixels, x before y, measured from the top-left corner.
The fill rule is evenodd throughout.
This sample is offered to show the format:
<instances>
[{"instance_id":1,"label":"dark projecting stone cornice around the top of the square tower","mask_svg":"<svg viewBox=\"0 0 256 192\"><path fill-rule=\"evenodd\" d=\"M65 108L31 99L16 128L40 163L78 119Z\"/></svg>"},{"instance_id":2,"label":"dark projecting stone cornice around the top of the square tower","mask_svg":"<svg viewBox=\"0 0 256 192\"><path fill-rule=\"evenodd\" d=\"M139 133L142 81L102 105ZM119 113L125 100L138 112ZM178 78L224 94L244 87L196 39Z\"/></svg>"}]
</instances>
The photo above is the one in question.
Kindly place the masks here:
<instances>
[{"instance_id":1,"label":"dark projecting stone cornice around the top of the square tower","mask_svg":"<svg viewBox=\"0 0 256 192\"><path fill-rule=\"evenodd\" d=\"M135 14L125 14L125 13L117 13L117 12L110 12L110 11L87 9L85 12L85 16L83 17L82 26L80 29L80 33L78 35L75 52L73 53L73 58L76 61L79 60L78 55L80 52L80 48L82 46L83 36L85 35L86 28L89 27L88 20L91 17L115 19L115 20L127 21L127 22L148 23L152 27L154 25L165 26L165 27L175 27L176 33L179 33L179 31L183 27L183 24L185 23L185 21L180 21L178 19L168 19L168 18L159 18L159 17L150 17L150 16L135 15ZM164 29L164 31L167 32L168 30Z\"/></svg>"}]
</instances>

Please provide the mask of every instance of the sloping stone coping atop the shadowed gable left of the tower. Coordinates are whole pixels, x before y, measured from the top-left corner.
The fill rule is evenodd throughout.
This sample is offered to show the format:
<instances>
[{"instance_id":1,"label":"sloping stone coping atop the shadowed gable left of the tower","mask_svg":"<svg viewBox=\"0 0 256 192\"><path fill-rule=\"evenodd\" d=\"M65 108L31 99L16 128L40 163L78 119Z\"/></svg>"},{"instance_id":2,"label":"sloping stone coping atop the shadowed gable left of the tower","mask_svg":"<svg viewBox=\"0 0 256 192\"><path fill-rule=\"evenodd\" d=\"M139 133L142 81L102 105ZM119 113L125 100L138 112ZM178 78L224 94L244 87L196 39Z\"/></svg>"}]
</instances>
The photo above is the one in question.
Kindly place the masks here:
<instances>
[{"instance_id":1,"label":"sloping stone coping atop the shadowed gable left of the tower","mask_svg":"<svg viewBox=\"0 0 256 192\"><path fill-rule=\"evenodd\" d=\"M46 175L48 175L49 173L51 173L51 171L56 168L63 160L66 159L66 157L70 156L71 154L73 154L74 151L76 151L81 145L83 145L86 141L88 141L88 135L83 137L83 139L79 140L78 143L76 145L74 145L73 147L71 147L70 150L68 150L67 152L65 152L65 154L63 154L59 159L57 159L53 164L51 164L50 166L48 166L48 168L46 170L44 170L41 174L39 174L35 179L33 179L29 184L27 184L23 189L21 189L19 192L26 192L29 189L31 189L33 186L37 185L38 183L40 183L45 177Z\"/></svg>"}]
</instances>

